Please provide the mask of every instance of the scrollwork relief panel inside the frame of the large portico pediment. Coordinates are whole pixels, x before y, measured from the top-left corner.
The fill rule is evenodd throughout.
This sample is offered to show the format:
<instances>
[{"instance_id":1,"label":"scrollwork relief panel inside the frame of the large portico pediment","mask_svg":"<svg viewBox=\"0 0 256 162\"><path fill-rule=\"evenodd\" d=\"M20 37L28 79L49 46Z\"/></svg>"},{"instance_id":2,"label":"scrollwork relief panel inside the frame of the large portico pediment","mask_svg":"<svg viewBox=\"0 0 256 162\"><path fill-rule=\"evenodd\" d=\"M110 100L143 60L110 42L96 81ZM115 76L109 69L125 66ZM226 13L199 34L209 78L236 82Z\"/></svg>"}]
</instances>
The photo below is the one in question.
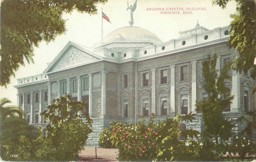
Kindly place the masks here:
<instances>
[{"instance_id":1,"label":"scrollwork relief panel inside the frame of the large portico pediment","mask_svg":"<svg viewBox=\"0 0 256 162\"><path fill-rule=\"evenodd\" d=\"M96 60L99 59L77 48L70 47L66 51L64 51L59 60L52 67L51 71L66 69L83 63L93 62Z\"/></svg>"}]
</instances>

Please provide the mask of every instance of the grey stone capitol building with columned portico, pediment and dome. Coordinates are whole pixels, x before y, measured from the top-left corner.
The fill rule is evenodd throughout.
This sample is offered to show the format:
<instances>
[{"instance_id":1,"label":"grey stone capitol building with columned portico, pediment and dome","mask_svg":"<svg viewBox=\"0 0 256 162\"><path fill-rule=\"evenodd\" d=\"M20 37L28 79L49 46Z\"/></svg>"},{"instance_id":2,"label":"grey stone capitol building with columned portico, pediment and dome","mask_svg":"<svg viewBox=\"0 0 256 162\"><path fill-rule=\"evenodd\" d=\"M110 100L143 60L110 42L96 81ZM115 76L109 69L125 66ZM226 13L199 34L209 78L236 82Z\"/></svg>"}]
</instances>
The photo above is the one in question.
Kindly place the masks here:
<instances>
[{"instance_id":1,"label":"grey stone capitol building with columned portico, pediment and dome","mask_svg":"<svg viewBox=\"0 0 256 162\"><path fill-rule=\"evenodd\" d=\"M199 26L180 32L178 39L162 42L140 27L116 29L92 48L69 41L43 74L18 79L18 105L27 121L45 126L44 116L52 100L71 94L72 100L87 102L85 112L93 120L87 145L97 145L101 130L109 122L136 122L154 113L156 120L175 114L196 114L187 128L201 130L202 113L196 100L207 98L203 88L202 63L209 54L218 55L217 68L234 59L227 45L228 26L212 30ZM225 84L235 95L223 114L236 120L255 109L255 81L248 72L229 71ZM237 132L236 125L233 130Z\"/></svg>"}]
</instances>

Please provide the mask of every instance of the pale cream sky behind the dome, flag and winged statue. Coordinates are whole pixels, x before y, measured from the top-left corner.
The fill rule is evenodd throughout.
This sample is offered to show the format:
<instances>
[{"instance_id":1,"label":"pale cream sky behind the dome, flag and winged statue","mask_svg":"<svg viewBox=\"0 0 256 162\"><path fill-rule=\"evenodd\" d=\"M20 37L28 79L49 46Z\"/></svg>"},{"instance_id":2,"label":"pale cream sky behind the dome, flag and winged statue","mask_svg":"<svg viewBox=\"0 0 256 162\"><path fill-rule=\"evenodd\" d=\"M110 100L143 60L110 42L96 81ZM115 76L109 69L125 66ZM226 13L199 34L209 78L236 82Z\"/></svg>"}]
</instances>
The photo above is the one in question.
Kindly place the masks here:
<instances>
[{"instance_id":1,"label":"pale cream sky behind the dome, flag and winged statue","mask_svg":"<svg viewBox=\"0 0 256 162\"><path fill-rule=\"evenodd\" d=\"M128 2L130 6L135 0L128 0ZM197 20L200 26L210 30L228 26L232 21L230 14L236 12L235 1L228 2L226 9L212 5L211 2L212 0L137 0L137 7L133 12L133 26L154 33L163 42L179 38L180 31L195 28ZM118 28L130 26L128 23L130 10L126 10L127 0L108 0L104 5L97 4L98 14L96 15L90 16L77 11L63 14L62 18L66 20L67 32L57 36L55 41L48 44L39 43L39 47L34 48L35 63L25 63L25 67L20 66L15 72L16 77L11 78L11 84L7 85L7 88L0 87L0 99L6 97L12 101L11 105L17 105L17 89L13 87L18 84L17 78L41 74L47 68L47 63L53 61L68 41L87 47L100 42L101 8L111 21L110 24L103 19L103 38ZM170 11L176 14L167 14Z\"/></svg>"}]
</instances>

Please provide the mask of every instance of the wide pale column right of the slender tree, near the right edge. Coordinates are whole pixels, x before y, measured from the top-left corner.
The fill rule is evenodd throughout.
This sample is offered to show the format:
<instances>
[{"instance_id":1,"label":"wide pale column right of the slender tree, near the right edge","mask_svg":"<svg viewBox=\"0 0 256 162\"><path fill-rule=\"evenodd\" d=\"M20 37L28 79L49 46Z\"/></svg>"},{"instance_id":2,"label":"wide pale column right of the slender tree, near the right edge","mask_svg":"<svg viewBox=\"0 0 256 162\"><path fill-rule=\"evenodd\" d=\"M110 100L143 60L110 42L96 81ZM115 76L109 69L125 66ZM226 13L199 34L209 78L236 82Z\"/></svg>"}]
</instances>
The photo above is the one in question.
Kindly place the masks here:
<instances>
[{"instance_id":1,"label":"wide pale column right of the slender tree, near the right edge","mask_svg":"<svg viewBox=\"0 0 256 162\"><path fill-rule=\"evenodd\" d=\"M236 70L232 70L232 90L231 95L235 95L232 100L231 111L238 111L240 108L240 75Z\"/></svg>"}]
</instances>

